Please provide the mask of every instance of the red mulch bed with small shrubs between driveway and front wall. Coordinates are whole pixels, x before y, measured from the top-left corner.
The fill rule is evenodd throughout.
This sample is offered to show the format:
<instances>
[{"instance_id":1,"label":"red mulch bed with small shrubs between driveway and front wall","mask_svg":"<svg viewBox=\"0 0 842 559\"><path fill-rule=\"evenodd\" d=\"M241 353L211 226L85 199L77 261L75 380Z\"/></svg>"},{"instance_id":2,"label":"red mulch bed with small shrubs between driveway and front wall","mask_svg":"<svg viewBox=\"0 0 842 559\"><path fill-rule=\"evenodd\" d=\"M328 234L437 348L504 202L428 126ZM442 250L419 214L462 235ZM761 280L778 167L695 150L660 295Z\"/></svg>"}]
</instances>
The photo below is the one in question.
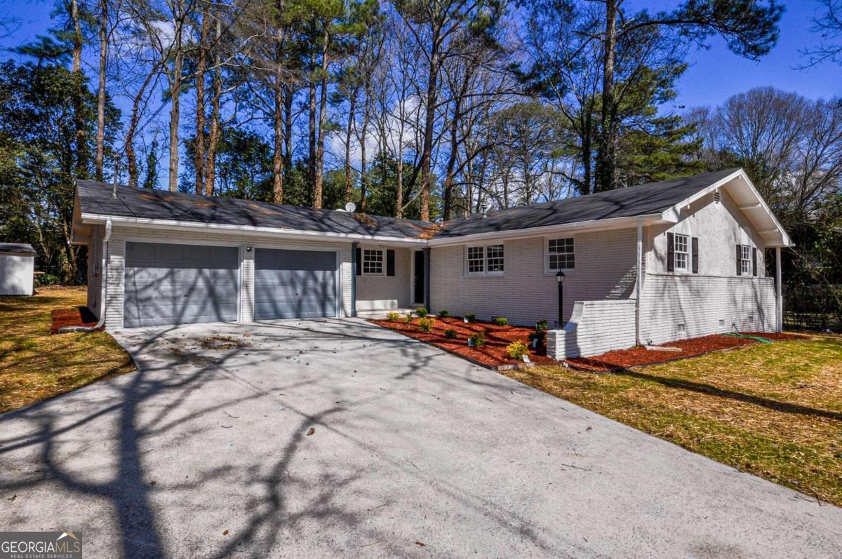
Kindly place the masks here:
<instances>
[{"instance_id":1,"label":"red mulch bed with small shrubs between driveway and front wall","mask_svg":"<svg viewBox=\"0 0 842 559\"><path fill-rule=\"evenodd\" d=\"M418 328L418 318L413 318L413 322L408 324L401 321L392 322L391 320L372 320L370 322L395 330L410 338L432 343L436 347L446 349L489 367L518 365L519 362L511 359L509 354L506 353L506 346L515 340L530 345L529 334L535 332L533 328L527 327L498 326L480 321L464 322L458 317L436 317L429 332L422 332ZM445 330L448 328L456 330L456 338L445 338ZM477 332L485 333L485 345L478 348L469 348L468 338ZM546 346L543 344L539 344L536 349L530 347L529 358L534 363L555 363L555 360L546 356Z\"/></svg>"}]
</instances>

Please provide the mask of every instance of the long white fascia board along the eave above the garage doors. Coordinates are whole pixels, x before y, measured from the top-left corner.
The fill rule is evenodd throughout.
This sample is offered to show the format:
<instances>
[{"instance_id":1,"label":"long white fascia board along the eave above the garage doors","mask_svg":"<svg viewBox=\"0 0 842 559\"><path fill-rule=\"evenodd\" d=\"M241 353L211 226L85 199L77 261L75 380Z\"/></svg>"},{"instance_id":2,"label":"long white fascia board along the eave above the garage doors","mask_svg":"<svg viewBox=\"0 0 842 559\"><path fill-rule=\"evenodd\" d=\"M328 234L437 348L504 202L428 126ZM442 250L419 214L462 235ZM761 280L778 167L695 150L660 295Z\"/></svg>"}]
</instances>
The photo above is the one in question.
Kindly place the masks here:
<instances>
[{"instance_id":1,"label":"long white fascia board along the eave above the garage doors","mask_svg":"<svg viewBox=\"0 0 842 559\"><path fill-rule=\"evenodd\" d=\"M144 217L101 216L99 214L82 214L83 223L101 224L111 220L115 225L143 227L148 229L187 229L200 232L236 232L244 235L259 235L276 238L312 238L313 240L331 241L369 241L396 246L425 246L426 239L411 239L401 237L381 237L377 235L357 235L351 233L299 231L296 229L277 229L275 227L256 227L227 225L223 223L196 223L195 221L156 220Z\"/></svg>"}]
</instances>

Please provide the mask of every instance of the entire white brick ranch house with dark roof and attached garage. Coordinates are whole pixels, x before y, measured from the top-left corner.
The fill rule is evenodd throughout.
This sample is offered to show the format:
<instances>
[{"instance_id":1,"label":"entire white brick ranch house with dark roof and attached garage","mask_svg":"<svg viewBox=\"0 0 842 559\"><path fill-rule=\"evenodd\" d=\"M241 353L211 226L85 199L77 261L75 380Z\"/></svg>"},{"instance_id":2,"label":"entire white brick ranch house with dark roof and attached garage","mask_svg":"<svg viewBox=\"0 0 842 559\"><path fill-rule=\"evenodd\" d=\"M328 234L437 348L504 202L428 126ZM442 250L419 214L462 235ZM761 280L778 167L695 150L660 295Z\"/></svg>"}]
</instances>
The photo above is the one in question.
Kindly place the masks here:
<instances>
[{"instance_id":1,"label":"entire white brick ranch house with dark roof and attached garage","mask_svg":"<svg viewBox=\"0 0 842 559\"><path fill-rule=\"evenodd\" d=\"M427 306L546 319L559 359L780 330L790 245L742 169L444 224L80 181L73 238L109 330Z\"/></svg>"}]
</instances>

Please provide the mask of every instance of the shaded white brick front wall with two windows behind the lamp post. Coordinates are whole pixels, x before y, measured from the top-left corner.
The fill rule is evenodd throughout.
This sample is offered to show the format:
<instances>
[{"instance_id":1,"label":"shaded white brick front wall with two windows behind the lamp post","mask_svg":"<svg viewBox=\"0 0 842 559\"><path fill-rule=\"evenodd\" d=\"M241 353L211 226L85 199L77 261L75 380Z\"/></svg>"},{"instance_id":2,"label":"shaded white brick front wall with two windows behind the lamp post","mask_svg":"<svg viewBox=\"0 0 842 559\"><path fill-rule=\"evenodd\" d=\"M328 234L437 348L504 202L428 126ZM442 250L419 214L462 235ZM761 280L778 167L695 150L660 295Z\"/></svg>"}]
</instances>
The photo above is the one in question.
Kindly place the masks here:
<instances>
[{"instance_id":1,"label":"shaded white brick front wall with two windows behind the lamp post","mask_svg":"<svg viewBox=\"0 0 842 559\"><path fill-rule=\"evenodd\" d=\"M575 241L576 269L564 282L564 317L573 303L623 299L635 282L637 230L618 229L565 235ZM454 315L473 313L481 320L507 317L513 324L532 326L537 320L557 320L555 272L544 271L545 237L504 242L502 277L465 274L464 245L433 247L430 253L431 311Z\"/></svg>"}]
</instances>

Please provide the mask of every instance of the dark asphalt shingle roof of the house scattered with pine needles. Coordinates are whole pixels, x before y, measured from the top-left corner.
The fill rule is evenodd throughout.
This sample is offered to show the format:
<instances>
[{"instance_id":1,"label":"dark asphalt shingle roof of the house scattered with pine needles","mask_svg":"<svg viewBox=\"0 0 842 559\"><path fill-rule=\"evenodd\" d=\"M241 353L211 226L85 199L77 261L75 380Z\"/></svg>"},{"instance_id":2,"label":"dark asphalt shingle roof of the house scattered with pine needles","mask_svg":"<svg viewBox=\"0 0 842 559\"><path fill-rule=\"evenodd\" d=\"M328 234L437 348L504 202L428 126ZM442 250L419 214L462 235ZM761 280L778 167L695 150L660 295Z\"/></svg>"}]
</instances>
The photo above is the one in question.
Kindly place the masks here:
<instances>
[{"instance_id":1,"label":"dark asphalt shingle roof of the house scattered with pine needles","mask_svg":"<svg viewBox=\"0 0 842 559\"><path fill-rule=\"evenodd\" d=\"M112 185L88 180L77 181L77 192L81 210L86 214L424 239L657 213L679 204L736 170L725 169L588 196L492 211L485 217L475 214L444 224L122 186L117 187L117 197L114 198Z\"/></svg>"}]
</instances>

